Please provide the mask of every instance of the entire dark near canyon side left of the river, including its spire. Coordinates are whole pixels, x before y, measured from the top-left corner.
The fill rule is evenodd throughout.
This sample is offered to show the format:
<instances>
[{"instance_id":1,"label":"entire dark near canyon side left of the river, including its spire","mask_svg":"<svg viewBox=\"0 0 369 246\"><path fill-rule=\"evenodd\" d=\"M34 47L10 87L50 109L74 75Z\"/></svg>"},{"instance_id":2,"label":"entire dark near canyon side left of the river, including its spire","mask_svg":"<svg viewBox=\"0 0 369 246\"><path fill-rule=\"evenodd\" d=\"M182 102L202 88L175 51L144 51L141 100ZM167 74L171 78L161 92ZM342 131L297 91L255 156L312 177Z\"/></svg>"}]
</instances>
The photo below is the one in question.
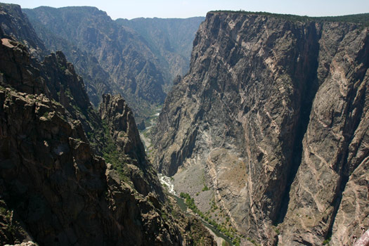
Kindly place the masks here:
<instances>
[{"instance_id":1,"label":"entire dark near canyon side left of the river, including its spire","mask_svg":"<svg viewBox=\"0 0 369 246\"><path fill-rule=\"evenodd\" d=\"M105 96L117 100L105 101L102 121L63 53L40 63L4 33L0 244L213 245L200 221L169 205L122 98Z\"/></svg>"}]
</instances>

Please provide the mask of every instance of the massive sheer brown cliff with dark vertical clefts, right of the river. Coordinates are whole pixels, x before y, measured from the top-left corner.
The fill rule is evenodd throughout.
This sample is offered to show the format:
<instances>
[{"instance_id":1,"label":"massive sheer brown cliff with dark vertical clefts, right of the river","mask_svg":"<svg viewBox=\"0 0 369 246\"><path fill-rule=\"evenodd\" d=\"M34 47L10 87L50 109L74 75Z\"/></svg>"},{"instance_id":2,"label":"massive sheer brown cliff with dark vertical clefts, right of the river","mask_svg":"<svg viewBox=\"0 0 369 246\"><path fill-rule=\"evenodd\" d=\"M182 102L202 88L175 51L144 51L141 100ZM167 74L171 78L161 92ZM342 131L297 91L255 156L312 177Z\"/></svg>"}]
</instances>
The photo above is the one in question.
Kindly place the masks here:
<instances>
[{"instance_id":1,"label":"massive sheer brown cliff with dark vertical clefts, right of the river","mask_svg":"<svg viewBox=\"0 0 369 246\"><path fill-rule=\"evenodd\" d=\"M160 114L155 167L205 169L216 204L261 245L343 245L368 224L368 33L208 13Z\"/></svg>"}]
</instances>

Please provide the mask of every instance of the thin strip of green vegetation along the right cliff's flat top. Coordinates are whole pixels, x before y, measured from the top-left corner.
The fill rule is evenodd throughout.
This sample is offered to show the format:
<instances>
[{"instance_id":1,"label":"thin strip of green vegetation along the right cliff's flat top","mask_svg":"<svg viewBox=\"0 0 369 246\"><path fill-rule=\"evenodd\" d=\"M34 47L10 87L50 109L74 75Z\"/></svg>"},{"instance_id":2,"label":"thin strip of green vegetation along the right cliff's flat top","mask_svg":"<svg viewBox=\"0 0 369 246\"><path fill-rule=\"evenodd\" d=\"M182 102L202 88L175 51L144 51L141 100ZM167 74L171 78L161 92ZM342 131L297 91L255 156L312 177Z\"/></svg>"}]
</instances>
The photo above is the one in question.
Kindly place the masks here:
<instances>
[{"instance_id":1,"label":"thin strip of green vegetation along the right cliff's flat top","mask_svg":"<svg viewBox=\"0 0 369 246\"><path fill-rule=\"evenodd\" d=\"M369 27L369 13L361 13L357 15L342 15L342 16L323 16L323 17L310 17L301 15L287 15L280 13L267 13L267 12L250 12L250 11L210 11L209 13L240 13L244 15L267 15L274 18L300 21L300 22L349 22L362 25L364 27Z\"/></svg>"}]
</instances>

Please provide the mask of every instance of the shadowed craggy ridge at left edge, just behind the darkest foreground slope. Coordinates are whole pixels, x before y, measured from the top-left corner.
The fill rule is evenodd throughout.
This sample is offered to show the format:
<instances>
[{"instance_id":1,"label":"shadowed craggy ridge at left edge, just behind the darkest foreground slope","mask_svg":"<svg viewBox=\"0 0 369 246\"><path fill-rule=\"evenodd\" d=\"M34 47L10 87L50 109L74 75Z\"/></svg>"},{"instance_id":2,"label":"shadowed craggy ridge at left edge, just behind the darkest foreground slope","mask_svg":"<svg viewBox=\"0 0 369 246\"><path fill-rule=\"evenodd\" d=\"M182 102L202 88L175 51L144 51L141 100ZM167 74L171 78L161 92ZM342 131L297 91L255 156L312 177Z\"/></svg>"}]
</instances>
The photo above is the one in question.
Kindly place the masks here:
<instances>
[{"instance_id":1,"label":"shadowed craggy ridge at left edge, just behind the darkest foreground slope","mask_svg":"<svg viewBox=\"0 0 369 246\"><path fill-rule=\"evenodd\" d=\"M39 63L28 56L25 46L4 38L0 54L3 58L0 61L2 82L25 93L43 93L63 105L67 109L65 114L79 120L86 133L99 131L96 128L101 127L101 122L93 112L83 81L76 75L73 65L65 60L63 53L52 53L45 57L43 63ZM82 139L87 138L84 136ZM90 141L96 143L99 152L102 148L101 136L96 134Z\"/></svg>"}]
</instances>

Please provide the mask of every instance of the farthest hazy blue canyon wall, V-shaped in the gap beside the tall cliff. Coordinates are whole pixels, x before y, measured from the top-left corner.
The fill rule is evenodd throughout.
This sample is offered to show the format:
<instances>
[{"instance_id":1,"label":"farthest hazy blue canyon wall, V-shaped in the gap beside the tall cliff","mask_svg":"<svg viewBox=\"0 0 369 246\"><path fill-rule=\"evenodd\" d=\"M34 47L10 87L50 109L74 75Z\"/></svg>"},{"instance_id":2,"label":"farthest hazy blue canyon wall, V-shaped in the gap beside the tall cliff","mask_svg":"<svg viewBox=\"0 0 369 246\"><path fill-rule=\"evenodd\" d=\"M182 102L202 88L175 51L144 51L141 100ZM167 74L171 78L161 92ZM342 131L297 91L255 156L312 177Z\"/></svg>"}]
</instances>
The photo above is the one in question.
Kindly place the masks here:
<instances>
[{"instance_id":1,"label":"farthest hazy blue canyon wall, V-shaped in the gap beside the tall cliff","mask_svg":"<svg viewBox=\"0 0 369 246\"><path fill-rule=\"evenodd\" d=\"M190 65L193 39L205 17L177 18L136 18L117 19L117 23L130 27L141 34L151 51L160 60L166 88L178 75L185 75Z\"/></svg>"}]
</instances>

